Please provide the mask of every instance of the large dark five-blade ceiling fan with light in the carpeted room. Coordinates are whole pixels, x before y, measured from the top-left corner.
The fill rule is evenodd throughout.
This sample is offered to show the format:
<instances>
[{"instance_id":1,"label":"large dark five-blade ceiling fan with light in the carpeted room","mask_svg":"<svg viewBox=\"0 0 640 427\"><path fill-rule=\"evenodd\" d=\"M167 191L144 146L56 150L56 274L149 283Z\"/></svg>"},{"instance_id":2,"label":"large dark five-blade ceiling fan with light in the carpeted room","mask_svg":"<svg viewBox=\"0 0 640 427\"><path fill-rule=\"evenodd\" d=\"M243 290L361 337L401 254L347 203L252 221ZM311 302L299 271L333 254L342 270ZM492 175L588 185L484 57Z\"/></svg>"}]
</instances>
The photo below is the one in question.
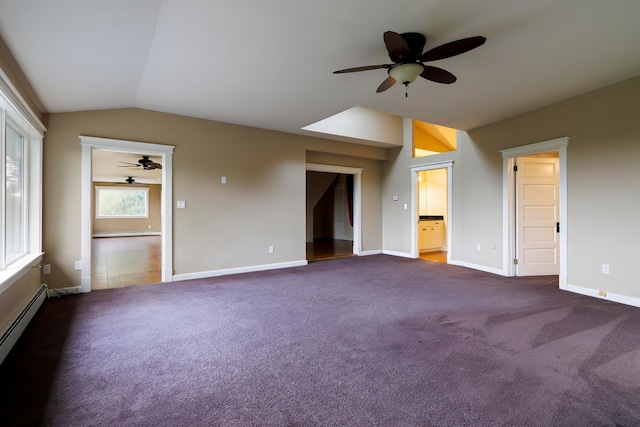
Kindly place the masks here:
<instances>
[{"instance_id":1,"label":"large dark five-blade ceiling fan with light in the carpeted room","mask_svg":"<svg viewBox=\"0 0 640 427\"><path fill-rule=\"evenodd\" d=\"M400 82L406 89L409 83L418 76L436 83L451 84L457 80L456 76L442 68L424 65L425 62L438 61L468 52L487 41L485 37L468 37L449 43L445 43L426 52L422 52L427 38L420 33L402 33L393 31L384 33L384 44L389 52L389 58L393 64L367 65L364 67L347 68L345 70L334 71L334 74L355 73L358 71L377 70L386 68L389 77L382 82L377 93L384 92L391 86Z\"/></svg>"}]
</instances>

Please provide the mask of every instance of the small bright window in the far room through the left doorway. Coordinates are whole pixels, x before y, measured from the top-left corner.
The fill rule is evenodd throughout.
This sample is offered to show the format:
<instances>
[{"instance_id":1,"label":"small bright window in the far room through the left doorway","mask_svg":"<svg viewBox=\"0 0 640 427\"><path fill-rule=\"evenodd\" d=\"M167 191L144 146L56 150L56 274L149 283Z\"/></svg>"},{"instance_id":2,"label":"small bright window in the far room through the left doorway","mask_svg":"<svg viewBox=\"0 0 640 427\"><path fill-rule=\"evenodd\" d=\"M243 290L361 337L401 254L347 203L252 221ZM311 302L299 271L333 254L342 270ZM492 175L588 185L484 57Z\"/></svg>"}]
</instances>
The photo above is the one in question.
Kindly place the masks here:
<instances>
[{"instance_id":1,"label":"small bright window in the far room through the left doorway","mask_svg":"<svg viewBox=\"0 0 640 427\"><path fill-rule=\"evenodd\" d=\"M96 187L96 218L148 217L148 188Z\"/></svg>"}]
</instances>

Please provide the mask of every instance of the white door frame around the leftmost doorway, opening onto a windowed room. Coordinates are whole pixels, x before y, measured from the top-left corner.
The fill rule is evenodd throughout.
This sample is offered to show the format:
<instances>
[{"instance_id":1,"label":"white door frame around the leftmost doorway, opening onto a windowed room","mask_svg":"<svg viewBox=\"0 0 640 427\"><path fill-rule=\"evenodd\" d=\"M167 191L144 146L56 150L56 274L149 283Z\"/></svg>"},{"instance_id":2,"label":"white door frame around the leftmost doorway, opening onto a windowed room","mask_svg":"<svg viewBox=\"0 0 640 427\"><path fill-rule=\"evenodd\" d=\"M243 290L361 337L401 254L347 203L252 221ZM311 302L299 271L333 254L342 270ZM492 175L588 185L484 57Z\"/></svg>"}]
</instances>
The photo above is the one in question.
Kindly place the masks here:
<instances>
[{"instance_id":1,"label":"white door frame around the leftmost doorway, opening onto a windowed room","mask_svg":"<svg viewBox=\"0 0 640 427\"><path fill-rule=\"evenodd\" d=\"M91 291L91 241L93 229L93 150L117 151L123 153L148 154L162 158L162 191L160 212L162 223L162 281L173 281L173 145L150 144L147 142L80 136L82 145L81 172L81 259L80 292Z\"/></svg>"}]
</instances>

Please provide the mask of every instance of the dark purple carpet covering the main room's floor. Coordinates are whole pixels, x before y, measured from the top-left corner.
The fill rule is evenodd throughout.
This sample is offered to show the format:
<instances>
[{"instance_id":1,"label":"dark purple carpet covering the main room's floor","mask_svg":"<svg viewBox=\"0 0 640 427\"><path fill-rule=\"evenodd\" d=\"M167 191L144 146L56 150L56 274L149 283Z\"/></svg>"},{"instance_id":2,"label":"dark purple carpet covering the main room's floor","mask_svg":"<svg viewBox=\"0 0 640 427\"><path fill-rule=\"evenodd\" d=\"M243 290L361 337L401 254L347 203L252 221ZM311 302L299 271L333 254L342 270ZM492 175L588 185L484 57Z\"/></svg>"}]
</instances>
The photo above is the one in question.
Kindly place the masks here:
<instances>
[{"instance_id":1,"label":"dark purple carpet covering the main room's floor","mask_svg":"<svg viewBox=\"0 0 640 427\"><path fill-rule=\"evenodd\" d=\"M637 426L640 309L352 257L48 300L0 380L2 425Z\"/></svg>"}]
</instances>

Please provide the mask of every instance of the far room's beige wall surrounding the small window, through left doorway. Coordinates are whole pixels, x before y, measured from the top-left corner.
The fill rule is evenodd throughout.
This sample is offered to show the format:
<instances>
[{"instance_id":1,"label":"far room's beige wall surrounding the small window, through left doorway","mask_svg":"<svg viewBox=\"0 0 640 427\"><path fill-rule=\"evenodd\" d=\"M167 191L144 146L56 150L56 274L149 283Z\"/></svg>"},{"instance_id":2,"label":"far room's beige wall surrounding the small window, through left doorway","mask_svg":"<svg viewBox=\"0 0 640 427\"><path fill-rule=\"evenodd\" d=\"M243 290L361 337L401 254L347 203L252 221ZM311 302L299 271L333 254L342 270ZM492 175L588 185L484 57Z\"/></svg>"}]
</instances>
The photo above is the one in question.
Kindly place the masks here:
<instances>
[{"instance_id":1,"label":"far room's beige wall surrounding the small window, through left doorway","mask_svg":"<svg viewBox=\"0 0 640 427\"><path fill-rule=\"evenodd\" d=\"M162 231L160 212L160 191L159 184L148 184L136 186L136 188L149 189L149 218L96 218L96 192L95 187L111 187L112 182L94 182L93 194L93 233L149 233Z\"/></svg>"}]
</instances>

